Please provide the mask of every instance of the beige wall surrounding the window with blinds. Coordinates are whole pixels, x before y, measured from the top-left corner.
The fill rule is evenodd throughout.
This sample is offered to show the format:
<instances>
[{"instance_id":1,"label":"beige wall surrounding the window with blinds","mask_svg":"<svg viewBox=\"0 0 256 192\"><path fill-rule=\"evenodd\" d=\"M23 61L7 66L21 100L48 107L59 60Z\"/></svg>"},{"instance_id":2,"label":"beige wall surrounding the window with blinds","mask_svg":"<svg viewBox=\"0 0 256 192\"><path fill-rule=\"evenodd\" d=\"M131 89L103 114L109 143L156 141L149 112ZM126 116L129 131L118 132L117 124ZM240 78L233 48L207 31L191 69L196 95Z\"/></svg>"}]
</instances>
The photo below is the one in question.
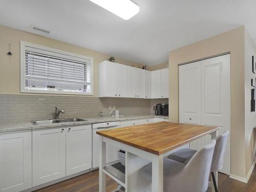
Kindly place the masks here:
<instances>
[{"instance_id":1,"label":"beige wall surrounding the window with blinds","mask_svg":"<svg viewBox=\"0 0 256 192\"><path fill-rule=\"evenodd\" d=\"M94 96L98 95L98 63L110 58L110 55L67 44L66 42L34 35L24 31L0 25L0 94L20 94L19 42L27 41L71 53L86 55L94 59ZM8 44L11 44L11 63L9 64ZM116 58L116 62L142 67L139 63ZM27 94L27 93L26 93ZM49 95L49 94L48 94Z\"/></svg>"}]
</instances>

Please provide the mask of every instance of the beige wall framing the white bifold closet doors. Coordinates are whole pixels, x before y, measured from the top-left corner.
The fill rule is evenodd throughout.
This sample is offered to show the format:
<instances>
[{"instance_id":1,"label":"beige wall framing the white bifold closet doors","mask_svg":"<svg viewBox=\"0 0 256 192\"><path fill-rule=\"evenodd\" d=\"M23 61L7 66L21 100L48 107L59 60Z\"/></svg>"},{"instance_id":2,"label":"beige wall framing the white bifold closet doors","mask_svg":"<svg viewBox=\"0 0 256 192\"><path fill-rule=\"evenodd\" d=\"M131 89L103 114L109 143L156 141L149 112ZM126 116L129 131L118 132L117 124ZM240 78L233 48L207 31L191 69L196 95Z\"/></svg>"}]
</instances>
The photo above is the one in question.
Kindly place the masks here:
<instances>
[{"instance_id":1,"label":"beige wall framing the white bifold closet doors","mask_svg":"<svg viewBox=\"0 0 256 192\"><path fill-rule=\"evenodd\" d=\"M196 42L169 53L169 113L178 122L178 65L230 52L231 174L245 177L244 27Z\"/></svg>"}]
</instances>

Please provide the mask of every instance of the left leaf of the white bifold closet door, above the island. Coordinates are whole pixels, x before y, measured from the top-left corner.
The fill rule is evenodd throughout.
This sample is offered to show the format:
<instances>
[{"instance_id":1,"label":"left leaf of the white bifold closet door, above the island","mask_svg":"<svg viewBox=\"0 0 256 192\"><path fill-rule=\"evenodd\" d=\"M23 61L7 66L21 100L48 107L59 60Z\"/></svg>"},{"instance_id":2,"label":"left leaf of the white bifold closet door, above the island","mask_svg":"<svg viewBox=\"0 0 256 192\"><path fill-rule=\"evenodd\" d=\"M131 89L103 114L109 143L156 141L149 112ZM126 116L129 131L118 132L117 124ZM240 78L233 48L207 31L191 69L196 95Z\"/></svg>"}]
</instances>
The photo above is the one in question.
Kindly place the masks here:
<instances>
[{"instance_id":1,"label":"left leaf of the white bifold closet door, above the island","mask_svg":"<svg viewBox=\"0 0 256 192\"><path fill-rule=\"evenodd\" d=\"M179 66L179 121L201 124L201 61Z\"/></svg>"}]
</instances>

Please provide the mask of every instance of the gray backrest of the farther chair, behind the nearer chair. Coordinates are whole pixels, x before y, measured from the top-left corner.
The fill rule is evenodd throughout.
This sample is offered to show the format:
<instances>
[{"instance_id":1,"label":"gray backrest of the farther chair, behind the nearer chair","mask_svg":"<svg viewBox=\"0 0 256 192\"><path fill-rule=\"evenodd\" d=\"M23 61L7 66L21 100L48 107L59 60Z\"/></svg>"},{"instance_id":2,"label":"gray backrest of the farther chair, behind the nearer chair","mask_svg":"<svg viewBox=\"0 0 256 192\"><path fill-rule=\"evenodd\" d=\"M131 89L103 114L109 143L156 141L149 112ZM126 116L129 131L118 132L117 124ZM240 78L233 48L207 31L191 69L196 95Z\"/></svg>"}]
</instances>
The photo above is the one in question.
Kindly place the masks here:
<instances>
[{"instance_id":1,"label":"gray backrest of the farther chair, behind the nearer chair","mask_svg":"<svg viewBox=\"0 0 256 192\"><path fill-rule=\"evenodd\" d=\"M217 172L222 168L223 158L227 146L229 132L225 131L216 138L214 157L212 157L211 172Z\"/></svg>"}]
</instances>

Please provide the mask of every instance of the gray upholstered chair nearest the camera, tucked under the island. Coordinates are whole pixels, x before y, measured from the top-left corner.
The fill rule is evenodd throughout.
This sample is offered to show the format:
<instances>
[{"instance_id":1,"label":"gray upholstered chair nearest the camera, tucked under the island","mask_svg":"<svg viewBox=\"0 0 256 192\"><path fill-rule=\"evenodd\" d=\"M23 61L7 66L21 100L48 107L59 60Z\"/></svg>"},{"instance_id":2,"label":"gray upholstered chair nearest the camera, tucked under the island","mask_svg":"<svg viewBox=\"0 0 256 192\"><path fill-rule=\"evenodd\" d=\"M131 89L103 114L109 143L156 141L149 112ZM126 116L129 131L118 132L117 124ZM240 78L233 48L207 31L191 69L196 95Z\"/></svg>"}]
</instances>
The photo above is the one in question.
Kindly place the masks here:
<instances>
[{"instance_id":1,"label":"gray upholstered chair nearest the camera, tucked under the island","mask_svg":"<svg viewBox=\"0 0 256 192\"><path fill-rule=\"evenodd\" d=\"M205 192L208 187L210 166L216 140L203 146L187 164L164 158L164 191ZM152 163L140 170L141 176L152 181ZM151 191L148 185L145 191Z\"/></svg>"}]
</instances>

